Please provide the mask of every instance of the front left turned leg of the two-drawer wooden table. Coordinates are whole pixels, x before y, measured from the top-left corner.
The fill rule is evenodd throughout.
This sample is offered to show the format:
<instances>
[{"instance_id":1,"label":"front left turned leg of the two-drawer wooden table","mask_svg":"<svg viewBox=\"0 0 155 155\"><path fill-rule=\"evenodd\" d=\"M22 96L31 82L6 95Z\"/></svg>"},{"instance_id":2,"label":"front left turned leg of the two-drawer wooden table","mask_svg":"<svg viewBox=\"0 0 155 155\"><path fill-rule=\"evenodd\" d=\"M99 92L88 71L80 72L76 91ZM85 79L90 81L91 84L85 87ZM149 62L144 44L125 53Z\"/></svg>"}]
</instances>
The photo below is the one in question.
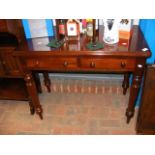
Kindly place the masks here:
<instances>
[{"instance_id":1,"label":"front left turned leg of the two-drawer wooden table","mask_svg":"<svg viewBox=\"0 0 155 155\"><path fill-rule=\"evenodd\" d=\"M26 82L26 87L30 98L29 102L30 112L33 114L34 113L33 111L35 109L35 112L39 115L40 119L43 119L42 115L43 110L39 103L37 89L32 74L31 73L25 74L24 80Z\"/></svg>"}]
</instances>

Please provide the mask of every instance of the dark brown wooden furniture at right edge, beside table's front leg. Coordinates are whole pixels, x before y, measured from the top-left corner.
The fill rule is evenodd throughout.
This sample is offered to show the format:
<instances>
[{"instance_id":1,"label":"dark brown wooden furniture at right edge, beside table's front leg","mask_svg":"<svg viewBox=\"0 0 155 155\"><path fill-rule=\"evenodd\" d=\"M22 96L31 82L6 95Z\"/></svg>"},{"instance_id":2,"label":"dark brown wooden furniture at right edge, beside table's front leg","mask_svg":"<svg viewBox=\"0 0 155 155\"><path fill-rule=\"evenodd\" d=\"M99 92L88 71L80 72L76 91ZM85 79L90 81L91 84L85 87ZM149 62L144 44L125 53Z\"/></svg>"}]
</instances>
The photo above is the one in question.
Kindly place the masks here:
<instances>
[{"instance_id":1,"label":"dark brown wooden furniture at right edge, beside table's front leg","mask_svg":"<svg viewBox=\"0 0 155 155\"><path fill-rule=\"evenodd\" d=\"M155 65L148 65L137 119L138 134L155 134Z\"/></svg>"}]
</instances>

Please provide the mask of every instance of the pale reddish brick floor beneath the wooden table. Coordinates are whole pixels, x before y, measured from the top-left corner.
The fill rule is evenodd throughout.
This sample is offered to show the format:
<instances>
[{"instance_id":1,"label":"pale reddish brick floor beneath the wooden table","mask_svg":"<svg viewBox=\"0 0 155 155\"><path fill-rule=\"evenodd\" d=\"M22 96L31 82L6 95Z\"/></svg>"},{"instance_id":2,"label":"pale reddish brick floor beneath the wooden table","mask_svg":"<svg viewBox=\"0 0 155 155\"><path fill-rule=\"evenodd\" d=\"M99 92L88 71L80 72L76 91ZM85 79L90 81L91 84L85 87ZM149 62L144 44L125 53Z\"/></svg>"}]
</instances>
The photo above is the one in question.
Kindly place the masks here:
<instances>
[{"instance_id":1,"label":"pale reddish brick floor beneath the wooden table","mask_svg":"<svg viewBox=\"0 0 155 155\"><path fill-rule=\"evenodd\" d=\"M129 90L124 96L119 80L52 78L51 93L43 85L39 98L44 120L29 114L27 101L0 100L0 134L136 134L138 110L126 124Z\"/></svg>"}]
</instances>

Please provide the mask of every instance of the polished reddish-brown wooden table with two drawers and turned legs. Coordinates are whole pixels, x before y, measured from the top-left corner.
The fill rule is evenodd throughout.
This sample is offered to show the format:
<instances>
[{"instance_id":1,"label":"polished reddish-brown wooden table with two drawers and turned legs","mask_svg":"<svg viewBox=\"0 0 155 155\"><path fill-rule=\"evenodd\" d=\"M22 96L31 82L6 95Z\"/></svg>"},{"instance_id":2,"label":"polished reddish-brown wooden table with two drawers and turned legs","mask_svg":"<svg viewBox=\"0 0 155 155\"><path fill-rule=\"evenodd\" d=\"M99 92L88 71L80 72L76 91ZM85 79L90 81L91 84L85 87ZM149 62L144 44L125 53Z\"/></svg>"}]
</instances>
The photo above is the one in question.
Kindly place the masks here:
<instances>
[{"instance_id":1,"label":"polished reddish-brown wooden table with two drawers and turned legs","mask_svg":"<svg viewBox=\"0 0 155 155\"><path fill-rule=\"evenodd\" d=\"M97 51L90 51L86 48L88 39L82 35L79 41L66 41L64 46L58 49L47 48L47 43L52 38L42 38L41 50L35 50L32 39L25 40L14 52L24 72L48 71L48 72L92 72L92 73L122 73L125 75L123 92L128 88L128 73L133 73L133 82L130 89L129 104L126 110L127 123L134 115L135 101L138 95L146 58L151 55L143 34L138 26L134 26L130 40L120 40L118 44L107 45ZM103 27L99 27L96 39L103 43ZM122 43L126 42L124 45ZM70 48L74 46L74 50ZM143 51L143 48L147 48ZM26 81L27 82L27 81ZM28 84L27 84L28 85ZM31 86L32 87L32 86ZM31 88L29 95L34 98L35 108L41 105L34 93L35 87Z\"/></svg>"}]
</instances>

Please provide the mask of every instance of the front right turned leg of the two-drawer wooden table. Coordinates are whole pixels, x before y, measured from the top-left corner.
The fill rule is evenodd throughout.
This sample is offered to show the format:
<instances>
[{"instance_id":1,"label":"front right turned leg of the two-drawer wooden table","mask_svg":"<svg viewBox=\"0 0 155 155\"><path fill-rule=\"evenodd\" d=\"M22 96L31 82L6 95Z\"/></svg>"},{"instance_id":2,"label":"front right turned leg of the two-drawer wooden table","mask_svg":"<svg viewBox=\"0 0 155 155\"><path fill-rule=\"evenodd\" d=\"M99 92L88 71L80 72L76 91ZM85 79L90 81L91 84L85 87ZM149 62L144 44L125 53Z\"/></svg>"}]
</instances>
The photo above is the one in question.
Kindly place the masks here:
<instances>
[{"instance_id":1,"label":"front right turned leg of the two-drawer wooden table","mask_svg":"<svg viewBox=\"0 0 155 155\"><path fill-rule=\"evenodd\" d=\"M132 85L130 89L129 104L126 109L127 123L129 123L130 119L134 116L135 103L136 103L136 99L138 96L138 92L139 92L139 88L141 85L142 76L144 72L144 64L145 62L138 63L137 68L135 72L133 73Z\"/></svg>"}]
</instances>

